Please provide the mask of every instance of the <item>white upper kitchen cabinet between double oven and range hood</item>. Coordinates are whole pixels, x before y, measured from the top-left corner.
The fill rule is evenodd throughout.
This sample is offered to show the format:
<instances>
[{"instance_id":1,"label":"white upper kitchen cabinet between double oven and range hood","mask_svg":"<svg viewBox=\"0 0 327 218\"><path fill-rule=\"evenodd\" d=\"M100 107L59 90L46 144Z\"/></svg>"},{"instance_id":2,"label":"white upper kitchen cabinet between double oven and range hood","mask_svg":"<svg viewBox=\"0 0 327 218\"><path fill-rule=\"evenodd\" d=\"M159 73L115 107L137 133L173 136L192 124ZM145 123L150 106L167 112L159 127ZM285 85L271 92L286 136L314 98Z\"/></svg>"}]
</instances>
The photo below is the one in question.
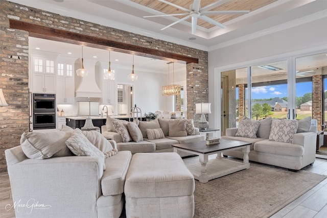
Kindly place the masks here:
<instances>
[{"instance_id":1,"label":"white upper kitchen cabinet between double oven and range hood","mask_svg":"<svg viewBox=\"0 0 327 218\"><path fill-rule=\"evenodd\" d=\"M74 104L75 84L73 77L57 77L57 104Z\"/></svg>"}]
</instances>

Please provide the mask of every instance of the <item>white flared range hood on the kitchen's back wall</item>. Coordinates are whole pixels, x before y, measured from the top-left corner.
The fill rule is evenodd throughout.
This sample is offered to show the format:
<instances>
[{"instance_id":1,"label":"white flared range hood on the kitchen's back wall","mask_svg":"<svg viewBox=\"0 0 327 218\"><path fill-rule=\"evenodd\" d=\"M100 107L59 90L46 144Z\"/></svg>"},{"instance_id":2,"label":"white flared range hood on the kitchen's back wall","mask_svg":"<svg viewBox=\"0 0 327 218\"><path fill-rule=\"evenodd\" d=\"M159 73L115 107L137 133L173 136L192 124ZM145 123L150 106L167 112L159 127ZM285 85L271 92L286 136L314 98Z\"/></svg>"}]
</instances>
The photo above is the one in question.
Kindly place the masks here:
<instances>
[{"instance_id":1,"label":"white flared range hood on the kitchen's back wall","mask_svg":"<svg viewBox=\"0 0 327 218\"><path fill-rule=\"evenodd\" d=\"M88 74L85 77L78 77L75 75L75 97L102 98L102 91L100 90L96 79L96 62L84 60L83 65L84 68L87 69ZM80 67L80 63L75 64L75 69L79 69Z\"/></svg>"}]
</instances>

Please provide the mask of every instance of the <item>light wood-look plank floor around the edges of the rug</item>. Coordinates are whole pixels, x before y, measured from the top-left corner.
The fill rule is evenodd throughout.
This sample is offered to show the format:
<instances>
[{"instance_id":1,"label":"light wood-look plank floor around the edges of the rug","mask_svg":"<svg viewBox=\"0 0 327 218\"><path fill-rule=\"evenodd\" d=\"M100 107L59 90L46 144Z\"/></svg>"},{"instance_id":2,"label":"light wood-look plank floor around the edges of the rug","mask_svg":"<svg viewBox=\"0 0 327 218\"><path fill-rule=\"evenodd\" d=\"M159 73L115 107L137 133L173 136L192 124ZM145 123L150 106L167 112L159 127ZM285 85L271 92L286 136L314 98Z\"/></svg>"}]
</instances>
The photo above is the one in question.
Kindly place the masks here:
<instances>
[{"instance_id":1,"label":"light wood-look plank floor around the edges of the rug","mask_svg":"<svg viewBox=\"0 0 327 218\"><path fill-rule=\"evenodd\" d=\"M316 158L312 166L304 168L312 173L327 175L327 159ZM7 204L13 204L8 173L0 173L0 217L15 217L13 209L6 210ZM325 218L327 217L327 179L316 185L304 195L279 210L272 218Z\"/></svg>"}]
</instances>

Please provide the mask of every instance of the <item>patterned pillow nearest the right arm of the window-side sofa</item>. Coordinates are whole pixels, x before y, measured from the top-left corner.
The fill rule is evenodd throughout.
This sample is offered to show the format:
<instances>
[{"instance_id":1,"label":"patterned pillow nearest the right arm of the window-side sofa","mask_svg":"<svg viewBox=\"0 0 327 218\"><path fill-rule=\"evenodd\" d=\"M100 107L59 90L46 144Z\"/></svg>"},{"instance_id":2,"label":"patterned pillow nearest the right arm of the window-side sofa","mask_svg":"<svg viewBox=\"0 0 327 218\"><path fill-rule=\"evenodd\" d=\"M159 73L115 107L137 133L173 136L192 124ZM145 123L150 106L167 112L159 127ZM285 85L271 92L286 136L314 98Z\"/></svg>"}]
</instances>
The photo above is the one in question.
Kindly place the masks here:
<instances>
[{"instance_id":1,"label":"patterned pillow nearest the right arm of the window-side sofa","mask_svg":"<svg viewBox=\"0 0 327 218\"><path fill-rule=\"evenodd\" d=\"M298 120L272 119L269 141L293 143L293 136L297 131Z\"/></svg>"}]
</instances>

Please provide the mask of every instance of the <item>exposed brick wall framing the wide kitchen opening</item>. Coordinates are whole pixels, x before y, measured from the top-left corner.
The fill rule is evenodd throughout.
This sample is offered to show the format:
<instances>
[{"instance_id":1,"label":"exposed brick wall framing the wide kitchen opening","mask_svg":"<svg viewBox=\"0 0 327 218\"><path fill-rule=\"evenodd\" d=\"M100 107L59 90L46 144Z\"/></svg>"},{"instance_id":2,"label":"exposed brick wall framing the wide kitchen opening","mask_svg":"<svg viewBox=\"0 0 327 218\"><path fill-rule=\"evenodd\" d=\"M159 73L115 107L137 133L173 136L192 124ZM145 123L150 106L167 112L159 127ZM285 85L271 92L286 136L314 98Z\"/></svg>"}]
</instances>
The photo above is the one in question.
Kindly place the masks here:
<instances>
[{"instance_id":1,"label":"exposed brick wall framing the wide kitchen opening","mask_svg":"<svg viewBox=\"0 0 327 218\"><path fill-rule=\"evenodd\" d=\"M9 19L198 58L199 64L186 65L186 96L188 98L187 117L195 120L200 118L200 115L195 115L194 111L195 103L208 101L207 52L17 5L5 0L0 0L0 3L0 87L3 88L9 104L9 106L0 108L0 172L6 171L7 167L5 149L18 146L21 134L29 130L28 32L10 29ZM10 58L11 56L12 58Z\"/></svg>"}]
</instances>

